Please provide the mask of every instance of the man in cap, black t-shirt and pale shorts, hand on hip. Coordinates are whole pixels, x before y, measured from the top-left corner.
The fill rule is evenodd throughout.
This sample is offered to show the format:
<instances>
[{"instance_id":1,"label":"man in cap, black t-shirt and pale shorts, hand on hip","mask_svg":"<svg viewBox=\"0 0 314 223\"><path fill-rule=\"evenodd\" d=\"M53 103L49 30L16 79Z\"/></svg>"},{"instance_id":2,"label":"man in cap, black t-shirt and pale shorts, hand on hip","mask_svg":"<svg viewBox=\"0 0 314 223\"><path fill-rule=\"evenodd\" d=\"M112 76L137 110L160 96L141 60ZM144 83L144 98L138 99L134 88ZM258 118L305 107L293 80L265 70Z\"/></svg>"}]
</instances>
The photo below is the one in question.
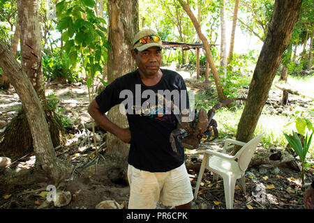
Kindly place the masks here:
<instances>
[{"instance_id":1,"label":"man in cap, black t-shirt and pale shorts, hand on hip","mask_svg":"<svg viewBox=\"0 0 314 223\"><path fill-rule=\"evenodd\" d=\"M170 133L177 128L177 119L173 109L169 112L164 104L157 105L156 96L160 93L169 96L171 92L172 102L178 102L179 97L176 106L181 108L188 105L186 84L177 72L160 69L162 48L155 31L144 29L137 33L131 54L138 69L115 79L88 109L104 130L130 143L128 208L156 208L157 201L165 206L191 208L193 200L184 148L177 145L178 153L175 153L170 146ZM121 103L126 107L130 128L119 128L105 115Z\"/></svg>"}]
</instances>

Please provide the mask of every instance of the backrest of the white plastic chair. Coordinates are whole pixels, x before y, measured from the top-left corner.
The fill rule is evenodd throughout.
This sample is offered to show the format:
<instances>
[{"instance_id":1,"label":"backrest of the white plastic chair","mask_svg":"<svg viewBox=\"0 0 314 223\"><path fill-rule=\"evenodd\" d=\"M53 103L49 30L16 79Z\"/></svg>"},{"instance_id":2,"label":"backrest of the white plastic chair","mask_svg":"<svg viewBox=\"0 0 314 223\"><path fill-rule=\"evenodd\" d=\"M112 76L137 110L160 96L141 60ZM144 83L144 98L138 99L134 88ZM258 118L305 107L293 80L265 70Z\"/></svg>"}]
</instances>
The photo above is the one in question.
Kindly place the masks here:
<instances>
[{"instance_id":1,"label":"backrest of the white plastic chair","mask_svg":"<svg viewBox=\"0 0 314 223\"><path fill-rule=\"evenodd\" d=\"M260 143L263 134L264 132L258 134L255 138L251 139L244 146L242 146L242 148L238 151L238 153L240 153L238 158L238 166L241 171L246 171L248 168L248 164L251 162L254 151L257 148L257 144Z\"/></svg>"}]
</instances>

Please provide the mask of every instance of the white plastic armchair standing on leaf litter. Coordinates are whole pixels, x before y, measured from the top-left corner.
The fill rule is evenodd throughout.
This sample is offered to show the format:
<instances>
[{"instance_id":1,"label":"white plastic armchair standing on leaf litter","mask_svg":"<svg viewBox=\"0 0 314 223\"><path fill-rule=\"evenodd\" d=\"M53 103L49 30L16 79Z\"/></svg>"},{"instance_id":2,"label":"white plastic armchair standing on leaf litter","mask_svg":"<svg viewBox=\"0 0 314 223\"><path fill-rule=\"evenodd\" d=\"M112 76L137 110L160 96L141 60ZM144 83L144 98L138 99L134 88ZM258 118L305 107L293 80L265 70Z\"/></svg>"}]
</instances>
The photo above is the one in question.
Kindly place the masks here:
<instances>
[{"instance_id":1,"label":"white plastic armchair standing on leaf litter","mask_svg":"<svg viewBox=\"0 0 314 223\"><path fill-rule=\"evenodd\" d=\"M223 187L225 190L225 203L227 209L233 208L233 198L234 198L234 186L237 179L240 178L240 185L244 190L244 194L246 192L246 183L245 183L245 172L248 168L248 164L251 162L251 158L255 149L257 148L257 144L260 143L262 139L261 133L257 135L254 139L251 139L247 143L237 141L234 139L226 139L225 144L223 146L223 153L212 151L211 149L207 149L204 151L204 157L202 161L202 165L200 167L200 174L197 178L197 183L194 192L194 198L197 198L197 192L200 188L200 183L202 181L202 176L204 174L205 168L214 173L214 180L217 179L219 174L223 177ZM225 154L225 149L227 148L227 144L236 144L242 146L242 148L236 153L236 155L227 155ZM209 155L213 155L209 157Z\"/></svg>"}]
</instances>

